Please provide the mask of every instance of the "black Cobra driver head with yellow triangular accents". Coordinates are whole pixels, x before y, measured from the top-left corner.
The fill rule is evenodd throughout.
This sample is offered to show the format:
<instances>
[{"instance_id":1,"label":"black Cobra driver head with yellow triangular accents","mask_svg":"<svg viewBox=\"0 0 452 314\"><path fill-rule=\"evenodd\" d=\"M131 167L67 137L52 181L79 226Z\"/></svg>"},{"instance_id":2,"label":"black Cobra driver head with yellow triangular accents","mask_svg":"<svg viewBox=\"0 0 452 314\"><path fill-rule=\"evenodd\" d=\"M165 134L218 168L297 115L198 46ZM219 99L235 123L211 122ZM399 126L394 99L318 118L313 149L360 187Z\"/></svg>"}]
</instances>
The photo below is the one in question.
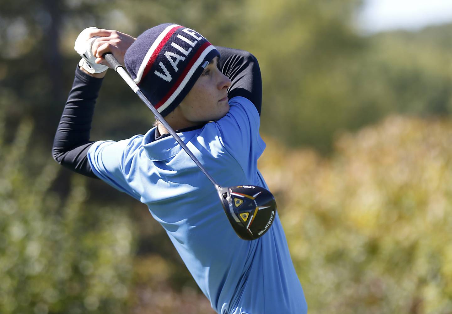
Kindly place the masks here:
<instances>
[{"instance_id":1,"label":"black Cobra driver head with yellow triangular accents","mask_svg":"<svg viewBox=\"0 0 452 314\"><path fill-rule=\"evenodd\" d=\"M261 237L276 215L276 201L260 186L218 187L221 204L237 235L244 240Z\"/></svg>"}]
</instances>

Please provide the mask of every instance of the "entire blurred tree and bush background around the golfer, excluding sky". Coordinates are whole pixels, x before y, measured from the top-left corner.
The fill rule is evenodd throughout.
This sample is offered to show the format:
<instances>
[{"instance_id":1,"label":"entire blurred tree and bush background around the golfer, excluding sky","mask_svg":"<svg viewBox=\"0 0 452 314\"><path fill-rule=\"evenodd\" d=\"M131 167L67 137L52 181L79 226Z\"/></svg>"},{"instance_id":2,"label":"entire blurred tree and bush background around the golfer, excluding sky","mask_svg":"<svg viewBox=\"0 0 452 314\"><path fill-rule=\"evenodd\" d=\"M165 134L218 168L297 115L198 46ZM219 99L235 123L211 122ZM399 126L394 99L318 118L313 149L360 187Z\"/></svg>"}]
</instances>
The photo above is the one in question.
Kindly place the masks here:
<instances>
[{"instance_id":1,"label":"entire blurred tree and bush background around the golfer, excluding sky","mask_svg":"<svg viewBox=\"0 0 452 314\"><path fill-rule=\"evenodd\" d=\"M212 313L146 206L51 157L78 33L174 22L259 60L260 167L310 313L451 313L452 25L364 36L360 5L1 1L0 312ZM109 73L92 138L152 122Z\"/></svg>"}]
</instances>

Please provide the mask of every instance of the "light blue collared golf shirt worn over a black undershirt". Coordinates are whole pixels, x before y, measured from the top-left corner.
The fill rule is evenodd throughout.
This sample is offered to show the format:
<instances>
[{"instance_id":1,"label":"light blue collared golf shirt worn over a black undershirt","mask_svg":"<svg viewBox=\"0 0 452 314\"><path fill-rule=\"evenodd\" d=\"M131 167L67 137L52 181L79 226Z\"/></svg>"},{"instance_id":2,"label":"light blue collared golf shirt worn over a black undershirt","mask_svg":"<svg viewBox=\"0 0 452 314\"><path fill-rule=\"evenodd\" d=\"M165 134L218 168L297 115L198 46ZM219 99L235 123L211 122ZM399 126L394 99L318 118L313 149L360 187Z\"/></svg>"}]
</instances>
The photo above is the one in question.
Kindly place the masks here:
<instances>
[{"instance_id":1,"label":"light blue collared golf shirt worn over a black undershirt","mask_svg":"<svg viewBox=\"0 0 452 314\"><path fill-rule=\"evenodd\" d=\"M268 189L257 168L265 143L259 114L243 97L223 118L178 133L221 186ZM172 137L155 128L122 141L98 141L88 152L100 179L146 204L221 314L302 314L306 300L278 214L254 241L231 227L212 183Z\"/></svg>"}]
</instances>

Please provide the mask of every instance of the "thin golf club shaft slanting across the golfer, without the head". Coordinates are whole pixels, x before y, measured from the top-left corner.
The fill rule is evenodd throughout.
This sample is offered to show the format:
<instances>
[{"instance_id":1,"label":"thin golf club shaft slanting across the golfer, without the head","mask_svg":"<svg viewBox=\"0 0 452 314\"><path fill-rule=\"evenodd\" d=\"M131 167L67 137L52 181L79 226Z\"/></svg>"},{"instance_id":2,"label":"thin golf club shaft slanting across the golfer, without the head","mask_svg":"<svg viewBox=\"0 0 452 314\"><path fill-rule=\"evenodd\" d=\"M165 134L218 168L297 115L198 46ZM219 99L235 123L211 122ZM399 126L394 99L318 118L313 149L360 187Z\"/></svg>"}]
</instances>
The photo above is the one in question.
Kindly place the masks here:
<instances>
[{"instance_id":1,"label":"thin golf club shaft slanting across the golfer, without the head","mask_svg":"<svg viewBox=\"0 0 452 314\"><path fill-rule=\"evenodd\" d=\"M177 143L184 149L184 151L192 158L193 162L196 163L196 165L201 169L201 171L207 176L207 179L209 179L215 188L218 190L219 185L217 181L207 172L207 170L202 166L201 162L199 162L198 158L193 155L193 153L188 149L187 145L185 145L184 141L182 141L181 138L179 138L179 135L174 132L173 128L170 127L170 125L165 121L163 116L160 114L160 112L157 111L157 109L154 108L154 106L151 104L151 102L146 98L146 96L143 94L143 92L140 90L140 88L137 86L137 84L132 80L132 78L129 76L127 71L122 67L122 65L116 60L116 58L113 56L112 53L107 52L104 54L105 60L110 63L110 65L113 67L113 69L122 77L124 81L126 81L127 85L132 88L132 90L135 92L135 94L140 97L140 99L146 104L146 106L151 109L152 113L155 115L155 118L157 118L161 124L166 128L166 130L173 136L173 138L176 140Z\"/></svg>"}]
</instances>

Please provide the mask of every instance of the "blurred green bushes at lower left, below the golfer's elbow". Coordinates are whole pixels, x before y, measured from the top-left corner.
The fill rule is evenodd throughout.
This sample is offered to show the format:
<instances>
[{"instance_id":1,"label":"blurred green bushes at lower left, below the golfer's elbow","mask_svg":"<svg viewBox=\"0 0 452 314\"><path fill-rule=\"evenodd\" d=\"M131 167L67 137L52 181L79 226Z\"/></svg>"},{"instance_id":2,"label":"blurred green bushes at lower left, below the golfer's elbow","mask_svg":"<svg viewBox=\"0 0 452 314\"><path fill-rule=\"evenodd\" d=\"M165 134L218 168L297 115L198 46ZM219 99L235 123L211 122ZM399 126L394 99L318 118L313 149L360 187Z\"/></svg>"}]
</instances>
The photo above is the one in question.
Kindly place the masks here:
<instances>
[{"instance_id":1,"label":"blurred green bushes at lower left, below the golfer's elbow","mask_svg":"<svg viewBox=\"0 0 452 314\"><path fill-rule=\"evenodd\" d=\"M53 161L31 175L24 160L32 128L25 119L13 143L0 143L0 312L124 313L131 221L88 205L80 176L67 196L53 192Z\"/></svg>"}]
</instances>

